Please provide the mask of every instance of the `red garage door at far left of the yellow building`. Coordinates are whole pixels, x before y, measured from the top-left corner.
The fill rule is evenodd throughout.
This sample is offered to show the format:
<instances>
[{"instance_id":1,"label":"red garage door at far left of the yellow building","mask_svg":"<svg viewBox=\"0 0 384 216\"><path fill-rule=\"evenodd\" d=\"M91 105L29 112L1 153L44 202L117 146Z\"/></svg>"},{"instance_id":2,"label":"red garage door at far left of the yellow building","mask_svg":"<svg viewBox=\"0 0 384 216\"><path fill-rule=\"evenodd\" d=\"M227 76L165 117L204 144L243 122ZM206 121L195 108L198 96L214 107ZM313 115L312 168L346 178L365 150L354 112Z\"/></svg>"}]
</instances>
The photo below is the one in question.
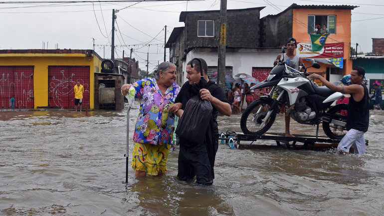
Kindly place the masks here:
<instances>
[{"instance_id":1,"label":"red garage door at far left of the yellow building","mask_svg":"<svg viewBox=\"0 0 384 216\"><path fill-rule=\"evenodd\" d=\"M33 66L0 66L0 108L33 108Z\"/></svg>"}]
</instances>

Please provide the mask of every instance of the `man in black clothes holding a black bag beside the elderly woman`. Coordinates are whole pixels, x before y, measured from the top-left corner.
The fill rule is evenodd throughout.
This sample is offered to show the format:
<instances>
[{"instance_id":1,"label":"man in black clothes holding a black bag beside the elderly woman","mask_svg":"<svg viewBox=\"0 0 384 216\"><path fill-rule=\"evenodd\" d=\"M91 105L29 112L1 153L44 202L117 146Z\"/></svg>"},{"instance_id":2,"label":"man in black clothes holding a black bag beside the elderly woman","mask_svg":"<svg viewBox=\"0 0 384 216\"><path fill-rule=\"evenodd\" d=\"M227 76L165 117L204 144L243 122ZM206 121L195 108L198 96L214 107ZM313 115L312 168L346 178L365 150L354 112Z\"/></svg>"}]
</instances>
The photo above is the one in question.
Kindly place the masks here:
<instances>
[{"instance_id":1,"label":"man in black clothes holding a black bag beside the elderly woman","mask_svg":"<svg viewBox=\"0 0 384 216\"><path fill-rule=\"evenodd\" d=\"M178 178L182 181L190 181L196 176L196 182L198 184L212 185L214 179L213 163L218 148L217 114L221 113L230 116L232 110L223 90L214 82L209 81L206 62L201 58L200 61L204 79L207 81L205 88L197 91L192 86L200 80L200 65L197 60L193 62L193 67L191 67L192 62L188 62L188 81L184 83L175 100L175 104L169 108L169 111L181 117L188 100L195 95L200 95L202 100L207 100L211 103L213 118L211 133L214 134L214 143L192 143L188 140L180 139ZM207 124L209 121L210 120L207 119ZM204 135L202 134L201 136Z\"/></svg>"}]
</instances>

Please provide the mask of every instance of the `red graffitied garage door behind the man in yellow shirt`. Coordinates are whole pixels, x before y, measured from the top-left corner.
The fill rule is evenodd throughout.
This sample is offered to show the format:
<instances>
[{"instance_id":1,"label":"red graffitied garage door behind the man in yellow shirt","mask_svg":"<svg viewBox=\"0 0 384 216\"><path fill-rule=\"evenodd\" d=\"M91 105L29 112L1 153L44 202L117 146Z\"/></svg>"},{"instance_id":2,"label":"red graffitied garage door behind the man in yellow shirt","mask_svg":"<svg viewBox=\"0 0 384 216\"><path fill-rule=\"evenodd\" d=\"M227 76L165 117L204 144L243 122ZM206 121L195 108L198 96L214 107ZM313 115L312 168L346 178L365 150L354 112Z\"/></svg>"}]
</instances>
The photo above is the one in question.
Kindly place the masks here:
<instances>
[{"instance_id":1,"label":"red graffitied garage door behind the man in yellow shirt","mask_svg":"<svg viewBox=\"0 0 384 216\"><path fill-rule=\"evenodd\" d=\"M83 107L89 108L89 66L49 66L48 106L74 108L76 82L84 86Z\"/></svg>"}]
</instances>

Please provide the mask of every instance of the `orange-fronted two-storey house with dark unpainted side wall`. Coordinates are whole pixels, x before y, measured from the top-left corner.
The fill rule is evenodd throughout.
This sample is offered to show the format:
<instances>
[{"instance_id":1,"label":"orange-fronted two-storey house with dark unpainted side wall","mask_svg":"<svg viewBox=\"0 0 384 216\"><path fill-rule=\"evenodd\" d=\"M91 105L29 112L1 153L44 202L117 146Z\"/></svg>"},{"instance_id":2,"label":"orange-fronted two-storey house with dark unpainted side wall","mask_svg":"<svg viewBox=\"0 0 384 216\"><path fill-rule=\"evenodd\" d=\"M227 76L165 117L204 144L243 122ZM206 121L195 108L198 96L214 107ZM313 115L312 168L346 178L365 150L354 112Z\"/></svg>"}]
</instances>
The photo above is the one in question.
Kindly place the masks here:
<instances>
[{"instance_id":1,"label":"orange-fronted two-storey house with dark unpainted side wall","mask_svg":"<svg viewBox=\"0 0 384 216\"><path fill-rule=\"evenodd\" d=\"M298 42L296 54L303 58L306 67L312 62L321 65L309 72L319 73L329 81L337 81L352 70L351 59L351 5L298 5L292 4L276 15L261 19L262 46L283 46L293 37ZM316 24L327 25L330 34L324 48L313 51L310 34Z\"/></svg>"}]
</instances>

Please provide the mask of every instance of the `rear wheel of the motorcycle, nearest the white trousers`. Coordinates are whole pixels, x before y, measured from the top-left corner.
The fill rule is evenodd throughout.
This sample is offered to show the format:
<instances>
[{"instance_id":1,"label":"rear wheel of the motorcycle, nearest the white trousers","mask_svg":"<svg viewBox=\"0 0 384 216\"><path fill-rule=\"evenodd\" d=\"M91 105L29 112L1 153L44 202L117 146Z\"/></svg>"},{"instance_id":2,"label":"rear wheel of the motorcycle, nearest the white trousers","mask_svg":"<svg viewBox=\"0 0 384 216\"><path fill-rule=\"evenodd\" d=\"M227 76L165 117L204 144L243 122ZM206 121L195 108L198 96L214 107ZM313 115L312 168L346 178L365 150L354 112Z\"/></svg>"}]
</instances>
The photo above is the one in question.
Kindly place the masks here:
<instances>
[{"instance_id":1,"label":"rear wheel of the motorcycle, nearest the white trousers","mask_svg":"<svg viewBox=\"0 0 384 216\"><path fill-rule=\"evenodd\" d=\"M337 104L336 106L329 109L327 114L331 114L333 119L337 121L347 122L348 105ZM335 125L330 122L323 122L324 133L331 139L341 140L347 133L346 127Z\"/></svg>"}]
</instances>

